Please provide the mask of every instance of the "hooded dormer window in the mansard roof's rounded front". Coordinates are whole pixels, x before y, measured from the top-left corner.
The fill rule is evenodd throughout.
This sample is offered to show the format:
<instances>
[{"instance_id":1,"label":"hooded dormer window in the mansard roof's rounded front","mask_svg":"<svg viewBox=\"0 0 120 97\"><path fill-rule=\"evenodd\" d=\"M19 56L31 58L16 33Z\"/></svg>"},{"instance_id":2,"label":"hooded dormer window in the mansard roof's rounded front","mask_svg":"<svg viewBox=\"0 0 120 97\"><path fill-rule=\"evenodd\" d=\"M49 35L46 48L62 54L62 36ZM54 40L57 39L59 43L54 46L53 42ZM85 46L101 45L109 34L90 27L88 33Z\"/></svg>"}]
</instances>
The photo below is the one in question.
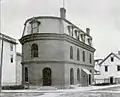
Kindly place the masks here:
<instances>
[{"instance_id":1,"label":"hooded dormer window in the mansard roof's rounded front","mask_svg":"<svg viewBox=\"0 0 120 97\"><path fill-rule=\"evenodd\" d=\"M35 18L33 18L33 20L30 22L30 24L31 24L31 33L39 32L39 25L40 25L39 21L37 21Z\"/></svg>"}]
</instances>

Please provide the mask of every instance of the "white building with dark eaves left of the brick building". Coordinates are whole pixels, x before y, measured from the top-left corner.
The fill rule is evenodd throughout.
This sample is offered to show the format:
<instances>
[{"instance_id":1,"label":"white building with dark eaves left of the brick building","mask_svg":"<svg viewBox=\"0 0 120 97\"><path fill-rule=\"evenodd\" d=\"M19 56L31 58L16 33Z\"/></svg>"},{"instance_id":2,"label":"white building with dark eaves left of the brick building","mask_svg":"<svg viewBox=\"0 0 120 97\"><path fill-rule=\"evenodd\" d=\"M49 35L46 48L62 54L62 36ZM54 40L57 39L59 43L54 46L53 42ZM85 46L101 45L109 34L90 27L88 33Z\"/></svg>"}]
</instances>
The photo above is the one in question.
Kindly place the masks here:
<instances>
[{"instance_id":1,"label":"white building with dark eaves left of the brick building","mask_svg":"<svg viewBox=\"0 0 120 97\"><path fill-rule=\"evenodd\" d=\"M16 53L16 40L7 35L0 33L0 55L3 40L3 57L2 57L2 86L16 85L17 82L17 65L20 65L20 59ZM0 56L1 57L1 56ZM1 60L0 60L1 61Z\"/></svg>"}]
</instances>

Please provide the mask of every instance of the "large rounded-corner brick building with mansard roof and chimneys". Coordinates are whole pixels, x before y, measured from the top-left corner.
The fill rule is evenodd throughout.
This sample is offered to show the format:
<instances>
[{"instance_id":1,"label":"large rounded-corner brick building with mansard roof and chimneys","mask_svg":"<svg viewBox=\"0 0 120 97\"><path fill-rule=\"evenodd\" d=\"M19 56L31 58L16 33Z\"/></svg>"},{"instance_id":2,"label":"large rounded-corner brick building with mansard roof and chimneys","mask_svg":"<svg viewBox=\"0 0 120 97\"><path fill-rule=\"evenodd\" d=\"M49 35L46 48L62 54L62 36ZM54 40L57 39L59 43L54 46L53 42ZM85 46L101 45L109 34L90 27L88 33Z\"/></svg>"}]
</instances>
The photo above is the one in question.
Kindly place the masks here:
<instances>
[{"instance_id":1,"label":"large rounded-corner brick building with mansard roof and chimneys","mask_svg":"<svg viewBox=\"0 0 120 97\"><path fill-rule=\"evenodd\" d=\"M94 52L90 29L86 32L61 17L40 16L25 22L22 44L22 82L30 86L91 85Z\"/></svg>"}]
</instances>

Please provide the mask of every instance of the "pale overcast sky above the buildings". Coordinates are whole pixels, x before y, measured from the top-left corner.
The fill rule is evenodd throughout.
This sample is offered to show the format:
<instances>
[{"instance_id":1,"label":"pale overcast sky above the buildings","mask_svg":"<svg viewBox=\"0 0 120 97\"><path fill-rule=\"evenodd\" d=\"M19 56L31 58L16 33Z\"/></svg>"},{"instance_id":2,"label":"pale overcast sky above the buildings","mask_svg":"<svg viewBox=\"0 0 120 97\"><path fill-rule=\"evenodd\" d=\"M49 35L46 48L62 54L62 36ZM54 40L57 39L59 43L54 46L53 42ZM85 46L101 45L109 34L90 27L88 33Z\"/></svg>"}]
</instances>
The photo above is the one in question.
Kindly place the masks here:
<instances>
[{"instance_id":1,"label":"pale overcast sky above the buildings","mask_svg":"<svg viewBox=\"0 0 120 97\"><path fill-rule=\"evenodd\" d=\"M85 31L90 28L95 59L120 50L120 0L64 0L66 19ZM1 32L20 39L24 22L33 16L59 16L63 0L0 0ZM19 43L19 41L18 41ZM17 51L21 52L20 43Z\"/></svg>"}]
</instances>

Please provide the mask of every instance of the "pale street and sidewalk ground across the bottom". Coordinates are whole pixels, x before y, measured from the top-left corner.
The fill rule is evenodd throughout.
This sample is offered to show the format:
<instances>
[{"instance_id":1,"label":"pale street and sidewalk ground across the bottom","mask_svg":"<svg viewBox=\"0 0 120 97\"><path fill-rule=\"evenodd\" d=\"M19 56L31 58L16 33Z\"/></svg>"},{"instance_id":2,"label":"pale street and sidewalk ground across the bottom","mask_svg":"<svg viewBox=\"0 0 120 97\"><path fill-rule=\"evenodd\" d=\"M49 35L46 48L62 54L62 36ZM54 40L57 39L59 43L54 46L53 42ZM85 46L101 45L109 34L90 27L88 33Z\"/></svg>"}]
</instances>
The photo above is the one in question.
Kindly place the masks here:
<instances>
[{"instance_id":1,"label":"pale street and sidewalk ground across the bottom","mask_svg":"<svg viewBox=\"0 0 120 97\"><path fill-rule=\"evenodd\" d=\"M75 87L62 90L6 90L2 97L120 97L120 85Z\"/></svg>"}]
</instances>

